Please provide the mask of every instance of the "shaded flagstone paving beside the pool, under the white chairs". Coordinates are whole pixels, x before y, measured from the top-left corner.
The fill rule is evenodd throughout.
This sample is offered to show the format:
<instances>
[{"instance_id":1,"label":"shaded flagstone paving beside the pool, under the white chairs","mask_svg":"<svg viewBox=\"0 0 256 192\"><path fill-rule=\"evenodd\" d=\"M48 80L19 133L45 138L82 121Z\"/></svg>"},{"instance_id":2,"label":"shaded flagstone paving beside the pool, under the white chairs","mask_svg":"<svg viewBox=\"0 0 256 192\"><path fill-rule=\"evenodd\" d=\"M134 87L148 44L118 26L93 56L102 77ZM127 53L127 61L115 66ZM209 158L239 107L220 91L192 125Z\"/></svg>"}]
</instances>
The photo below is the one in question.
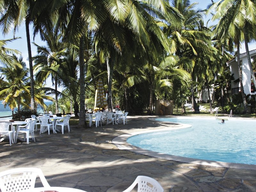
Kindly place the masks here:
<instances>
[{"instance_id":1,"label":"shaded flagstone paving beside the pool, under the white chairs","mask_svg":"<svg viewBox=\"0 0 256 192\"><path fill-rule=\"evenodd\" d=\"M165 192L256 191L256 171L182 163L117 148L119 135L179 127L150 121L154 116L130 116L128 124L103 125L50 135L35 133L36 143L0 142L0 171L37 167L53 187L87 192L120 192L138 175L156 179ZM157 116L155 116L157 117Z\"/></svg>"}]
</instances>

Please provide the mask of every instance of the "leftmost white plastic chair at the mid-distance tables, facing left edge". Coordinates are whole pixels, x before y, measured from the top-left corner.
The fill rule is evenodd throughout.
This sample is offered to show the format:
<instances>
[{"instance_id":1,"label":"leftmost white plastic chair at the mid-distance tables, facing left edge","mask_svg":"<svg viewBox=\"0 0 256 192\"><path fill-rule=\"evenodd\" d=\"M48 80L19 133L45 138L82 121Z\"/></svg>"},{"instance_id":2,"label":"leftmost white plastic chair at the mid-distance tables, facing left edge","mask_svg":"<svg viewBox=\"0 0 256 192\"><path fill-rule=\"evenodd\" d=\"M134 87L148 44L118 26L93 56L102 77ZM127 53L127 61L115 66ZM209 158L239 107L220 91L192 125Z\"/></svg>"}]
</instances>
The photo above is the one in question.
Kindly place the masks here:
<instances>
[{"instance_id":1,"label":"leftmost white plastic chair at the mid-distance tables, facing left edge","mask_svg":"<svg viewBox=\"0 0 256 192\"><path fill-rule=\"evenodd\" d=\"M9 128L11 126L11 131L9 131ZM10 146L12 145L12 143L14 143L15 140L15 130L13 129L12 123L10 121L1 121L0 122L0 138L1 135L4 135L4 137L2 139L0 139L0 142L3 141L6 136L9 137L9 141L10 141Z\"/></svg>"}]
</instances>

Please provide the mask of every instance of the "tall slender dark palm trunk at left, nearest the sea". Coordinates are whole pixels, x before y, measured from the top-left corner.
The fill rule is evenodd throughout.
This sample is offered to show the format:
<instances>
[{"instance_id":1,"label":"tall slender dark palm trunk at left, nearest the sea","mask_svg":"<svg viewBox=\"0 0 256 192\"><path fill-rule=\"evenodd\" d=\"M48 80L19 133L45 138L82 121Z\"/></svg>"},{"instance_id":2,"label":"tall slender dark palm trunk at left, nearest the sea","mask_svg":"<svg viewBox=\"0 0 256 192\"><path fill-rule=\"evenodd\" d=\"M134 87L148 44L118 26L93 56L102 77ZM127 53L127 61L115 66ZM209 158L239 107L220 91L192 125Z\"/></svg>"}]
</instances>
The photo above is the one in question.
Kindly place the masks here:
<instances>
[{"instance_id":1,"label":"tall slender dark palm trunk at left, nearest the sea","mask_svg":"<svg viewBox=\"0 0 256 192\"><path fill-rule=\"evenodd\" d=\"M30 44L30 35L29 35L29 19L25 21L26 25L26 36L27 36L27 45L28 45L28 63L29 63L29 73L30 73L30 109L35 110L35 81L33 75L33 63L32 63L32 54L31 54L31 44Z\"/></svg>"}]
</instances>

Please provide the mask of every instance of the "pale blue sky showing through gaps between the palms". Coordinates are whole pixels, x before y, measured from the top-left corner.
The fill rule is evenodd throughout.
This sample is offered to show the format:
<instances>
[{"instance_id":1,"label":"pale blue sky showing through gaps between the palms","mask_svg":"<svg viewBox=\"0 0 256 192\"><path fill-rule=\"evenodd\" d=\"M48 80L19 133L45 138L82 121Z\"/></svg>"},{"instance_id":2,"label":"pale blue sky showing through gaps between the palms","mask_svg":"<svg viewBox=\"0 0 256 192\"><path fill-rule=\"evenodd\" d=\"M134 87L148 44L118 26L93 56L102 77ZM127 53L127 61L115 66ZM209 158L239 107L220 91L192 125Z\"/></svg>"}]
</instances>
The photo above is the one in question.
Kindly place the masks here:
<instances>
[{"instance_id":1,"label":"pale blue sky showing through gaps between the palms","mask_svg":"<svg viewBox=\"0 0 256 192\"><path fill-rule=\"evenodd\" d=\"M196 8L201 8L201 9L206 9L207 5L211 4L211 0L191 0L190 2L198 3L198 5L196 5ZM207 18L205 17L205 22L209 19L210 19L209 16ZM33 57L36 55L36 47L34 44L32 44L32 42L35 42L36 44L39 44L39 45L44 45L45 43L41 41L39 35L37 35L35 39L33 39L31 28L32 27L30 26L30 41L31 41L31 50L32 50L32 57ZM20 51L22 53L23 60L26 62L28 66L28 47L27 47L27 40L26 40L25 23L23 24L23 26L19 27L18 32L16 32L15 36L21 37L21 39L17 39L12 43L8 43L6 47ZM0 33L0 39L10 39L10 38L13 38L12 32L5 36L3 36L2 33ZM249 44L249 50L253 50L253 49L256 49L256 43ZM241 53L245 52L244 44L242 44L240 52ZM52 83L50 80L47 80L47 85L52 87Z\"/></svg>"}]
</instances>

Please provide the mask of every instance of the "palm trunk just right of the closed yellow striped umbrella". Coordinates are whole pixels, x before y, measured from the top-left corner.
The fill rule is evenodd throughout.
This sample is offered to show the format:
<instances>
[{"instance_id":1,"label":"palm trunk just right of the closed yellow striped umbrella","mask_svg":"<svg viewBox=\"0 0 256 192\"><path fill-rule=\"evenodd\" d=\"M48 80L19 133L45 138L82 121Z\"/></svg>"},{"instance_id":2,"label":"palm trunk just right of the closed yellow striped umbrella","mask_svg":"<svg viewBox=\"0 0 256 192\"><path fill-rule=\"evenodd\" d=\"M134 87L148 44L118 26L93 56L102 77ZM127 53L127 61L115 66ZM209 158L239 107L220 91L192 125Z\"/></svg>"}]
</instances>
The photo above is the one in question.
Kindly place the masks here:
<instances>
[{"instance_id":1,"label":"palm trunk just right of the closed yellow striped umbrella","mask_svg":"<svg viewBox=\"0 0 256 192\"><path fill-rule=\"evenodd\" d=\"M113 58L114 57L114 58ZM108 69L108 111L112 112L112 79L113 71L115 66L115 56L110 59L107 59L107 69Z\"/></svg>"}]
</instances>

